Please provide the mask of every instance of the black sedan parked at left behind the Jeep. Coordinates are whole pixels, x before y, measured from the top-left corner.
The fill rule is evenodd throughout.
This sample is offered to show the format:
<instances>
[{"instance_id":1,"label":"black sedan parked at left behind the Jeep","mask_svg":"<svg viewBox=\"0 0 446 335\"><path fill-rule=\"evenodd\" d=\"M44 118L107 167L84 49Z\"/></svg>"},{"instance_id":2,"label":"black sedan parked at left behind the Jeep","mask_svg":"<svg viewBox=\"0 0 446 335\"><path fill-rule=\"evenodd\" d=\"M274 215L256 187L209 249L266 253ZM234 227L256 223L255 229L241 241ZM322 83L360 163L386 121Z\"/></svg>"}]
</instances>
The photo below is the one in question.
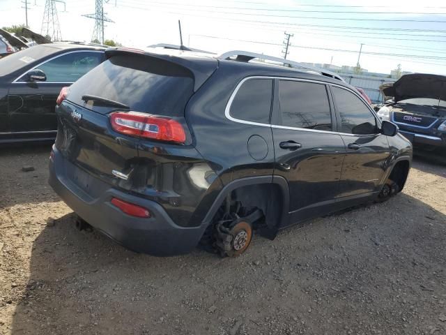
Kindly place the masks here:
<instances>
[{"instance_id":1,"label":"black sedan parked at left behind the Jeep","mask_svg":"<svg viewBox=\"0 0 446 335\"><path fill-rule=\"evenodd\" d=\"M105 47L52 43L0 59L0 143L54 140L54 108L70 86L104 61Z\"/></svg>"}]
</instances>

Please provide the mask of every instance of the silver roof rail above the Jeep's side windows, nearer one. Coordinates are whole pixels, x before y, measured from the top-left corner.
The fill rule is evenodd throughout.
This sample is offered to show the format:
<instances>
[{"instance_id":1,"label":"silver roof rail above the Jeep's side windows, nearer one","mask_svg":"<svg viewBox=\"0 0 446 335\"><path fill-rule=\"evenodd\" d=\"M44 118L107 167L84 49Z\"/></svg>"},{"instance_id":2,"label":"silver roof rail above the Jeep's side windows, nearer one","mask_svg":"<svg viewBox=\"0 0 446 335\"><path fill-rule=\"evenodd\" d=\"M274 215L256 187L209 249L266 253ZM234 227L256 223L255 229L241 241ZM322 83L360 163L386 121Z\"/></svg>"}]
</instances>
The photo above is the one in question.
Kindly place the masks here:
<instances>
[{"instance_id":1,"label":"silver roof rail above the Jeep's side windows, nearer one","mask_svg":"<svg viewBox=\"0 0 446 335\"><path fill-rule=\"evenodd\" d=\"M241 50L232 50L228 52L224 52L224 54L220 54L220 56L217 56L218 59L228 59L233 61L243 61L248 62L252 59L265 59L267 61L276 61L277 63L282 63L284 66L289 66L290 68L303 68L306 70L310 70L311 73L317 73L320 75L325 75L327 77L332 77L337 80L341 80L342 82L345 82L344 78L342 78L337 73L325 70L324 68L316 68L314 66L305 65L302 63L299 63L298 61L289 61L288 59L279 58L279 57L273 57L268 56L266 54L257 54L256 52L249 52L249 51L241 51Z\"/></svg>"}]
</instances>

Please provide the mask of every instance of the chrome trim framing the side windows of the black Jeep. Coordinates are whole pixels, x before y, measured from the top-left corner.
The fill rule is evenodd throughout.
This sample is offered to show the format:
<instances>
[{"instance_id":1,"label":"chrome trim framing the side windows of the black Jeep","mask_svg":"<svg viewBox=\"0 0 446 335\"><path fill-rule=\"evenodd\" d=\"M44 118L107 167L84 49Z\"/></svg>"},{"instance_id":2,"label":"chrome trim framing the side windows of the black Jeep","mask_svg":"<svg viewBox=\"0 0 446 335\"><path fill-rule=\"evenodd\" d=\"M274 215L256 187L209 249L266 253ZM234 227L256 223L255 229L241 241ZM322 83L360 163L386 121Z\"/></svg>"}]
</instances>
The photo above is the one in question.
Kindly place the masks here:
<instances>
[{"instance_id":1,"label":"chrome trim framing the side windows of the black Jeep","mask_svg":"<svg viewBox=\"0 0 446 335\"><path fill-rule=\"evenodd\" d=\"M243 120L243 119L236 119L235 117L232 117L231 113L230 113L232 102L233 102L234 98L236 97L236 94L238 93L238 90L240 89L240 87L245 82L247 82L247 80L252 80L252 79L293 80L295 82L312 82L314 84L334 85L334 86L337 86L337 87L341 87L342 89L346 89L347 91L350 91L351 93L355 94L355 96L360 98L363 103L365 103L364 98L362 98L359 94L355 93L355 91L353 91L352 89L349 89L348 87L343 87L343 86L338 85L338 84L332 84L330 82L324 82L322 80L311 80L311 79L301 79L301 78L293 78L293 77L279 77L279 76L268 76L268 75L264 75L264 76L263 75L253 75L253 76L250 76L250 77L245 77L242 80L240 80L240 82L236 86L236 89L234 89L234 91L232 92L231 96L229 97L229 101L228 101L228 103L226 103L226 107L224 108L224 116L226 117L226 119L229 119L229 120L231 120L233 122L237 122L239 124L249 124L249 125L252 125L252 126L288 129L288 130L291 130L291 131L308 131L308 132L312 132L312 133L325 133L325 134L328 133L328 134L347 135L347 136L356 136L356 137L380 135L379 133L378 134L367 134L367 135L355 135L355 134L350 134L350 133L340 133L338 131L318 131L317 129L307 129L307 128L298 128L298 127L289 127L289 126L279 126L277 124L261 124L259 122L246 121L246 120ZM366 106L367 105L368 104L366 103ZM374 110L372 110L371 107L369 107L369 110L372 112L372 114L378 120L378 123L380 124L379 119L376 116Z\"/></svg>"}]
</instances>

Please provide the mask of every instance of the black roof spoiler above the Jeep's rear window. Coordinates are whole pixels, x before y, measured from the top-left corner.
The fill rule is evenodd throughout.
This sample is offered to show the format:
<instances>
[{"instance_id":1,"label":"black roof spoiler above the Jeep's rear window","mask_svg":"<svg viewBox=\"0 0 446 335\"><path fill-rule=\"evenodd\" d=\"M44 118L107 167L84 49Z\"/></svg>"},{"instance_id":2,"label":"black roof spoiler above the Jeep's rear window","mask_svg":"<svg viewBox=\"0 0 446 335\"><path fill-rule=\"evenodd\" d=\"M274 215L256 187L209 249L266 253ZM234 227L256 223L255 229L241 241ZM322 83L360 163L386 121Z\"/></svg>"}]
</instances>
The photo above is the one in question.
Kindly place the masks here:
<instances>
[{"instance_id":1,"label":"black roof spoiler above the Jeep's rear window","mask_svg":"<svg viewBox=\"0 0 446 335\"><path fill-rule=\"evenodd\" d=\"M159 59L162 61L169 61L178 66L190 71L194 76L194 91L197 91L201 85L208 80L210 75L217 69L218 62L213 58L203 57L199 62L190 59L189 57L176 57L170 54L156 54L154 52L146 52L144 50L132 49L130 47L114 47L105 50L107 58L116 56L118 54L139 54L148 59Z\"/></svg>"}]
</instances>

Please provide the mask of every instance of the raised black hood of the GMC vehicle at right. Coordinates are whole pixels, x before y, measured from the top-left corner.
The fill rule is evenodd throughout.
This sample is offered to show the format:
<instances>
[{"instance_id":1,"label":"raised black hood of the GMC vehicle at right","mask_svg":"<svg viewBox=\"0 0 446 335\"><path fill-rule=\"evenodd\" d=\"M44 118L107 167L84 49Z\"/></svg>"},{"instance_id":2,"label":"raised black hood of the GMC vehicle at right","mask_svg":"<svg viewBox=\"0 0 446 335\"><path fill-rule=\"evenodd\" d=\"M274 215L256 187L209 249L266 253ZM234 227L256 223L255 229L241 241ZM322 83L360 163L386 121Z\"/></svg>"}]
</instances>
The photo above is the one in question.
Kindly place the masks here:
<instances>
[{"instance_id":1,"label":"raised black hood of the GMC vehicle at right","mask_svg":"<svg viewBox=\"0 0 446 335\"><path fill-rule=\"evenodd\" d=\"M385 83L379 87L385 97L395 102L410 98L432 98L446 101L446 76L416 73L403 75L397 82Z\"/></svg>"}]
</instances>

